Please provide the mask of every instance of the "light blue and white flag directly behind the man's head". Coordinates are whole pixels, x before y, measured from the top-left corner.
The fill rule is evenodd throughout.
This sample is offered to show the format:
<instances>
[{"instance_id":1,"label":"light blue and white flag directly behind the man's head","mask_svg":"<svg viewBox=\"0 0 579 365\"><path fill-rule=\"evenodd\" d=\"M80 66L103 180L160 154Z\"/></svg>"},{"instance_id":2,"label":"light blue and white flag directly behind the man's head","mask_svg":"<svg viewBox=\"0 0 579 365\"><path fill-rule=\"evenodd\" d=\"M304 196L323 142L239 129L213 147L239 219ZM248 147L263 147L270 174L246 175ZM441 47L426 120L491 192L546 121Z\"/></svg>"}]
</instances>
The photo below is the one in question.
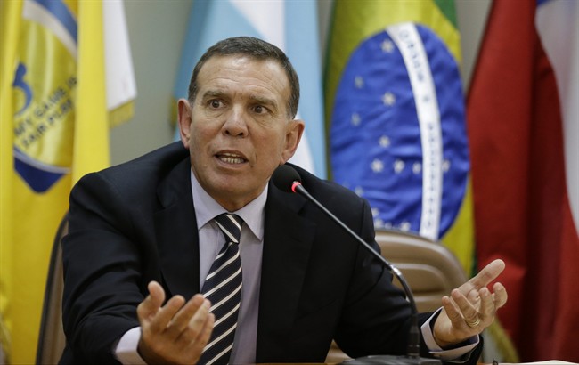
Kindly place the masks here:
<instances>
[{"instance_id":1,"label":"light blue and white flag directly behind the man's head","mask_svg":"<svg viewBox=\"0 0 579 365\"><path fill-rule=\"evenodd\" d=\"M195 63L217 41L249 36L277 45L298 72L298 117L306 131L290 162L319 177L326 176L322 116L320 45L317 4L312 1L206 1L192 4L181 64L175 81L175 99L186 97Z\"/></svg>"}]
</instances>

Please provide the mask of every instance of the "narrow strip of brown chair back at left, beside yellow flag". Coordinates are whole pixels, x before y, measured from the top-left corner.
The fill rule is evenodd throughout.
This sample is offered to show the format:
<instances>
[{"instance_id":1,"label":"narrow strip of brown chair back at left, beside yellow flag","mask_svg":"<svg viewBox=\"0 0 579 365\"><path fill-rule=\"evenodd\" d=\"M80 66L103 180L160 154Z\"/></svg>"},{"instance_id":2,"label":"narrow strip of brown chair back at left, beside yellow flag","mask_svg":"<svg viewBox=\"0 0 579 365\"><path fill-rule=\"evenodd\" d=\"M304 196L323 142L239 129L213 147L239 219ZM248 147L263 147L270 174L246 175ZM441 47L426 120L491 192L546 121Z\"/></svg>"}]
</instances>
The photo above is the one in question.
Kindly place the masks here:
<instances>
[{"instance_id":1,"label":"narrow strip of brown chair back at left, beside yellow flag","mask_svg":"<svg viewBox=\"0 0 579 365\"><path fill-rule=\"evenodd\" d=\"M48 278L46 279L45 302L37 346L37 364L56 364L61 359L66 337L62 329L62 275L61 240L69 232L69 222L62 219L56 232L51 254Z\"/></svg>"}]
</instances>

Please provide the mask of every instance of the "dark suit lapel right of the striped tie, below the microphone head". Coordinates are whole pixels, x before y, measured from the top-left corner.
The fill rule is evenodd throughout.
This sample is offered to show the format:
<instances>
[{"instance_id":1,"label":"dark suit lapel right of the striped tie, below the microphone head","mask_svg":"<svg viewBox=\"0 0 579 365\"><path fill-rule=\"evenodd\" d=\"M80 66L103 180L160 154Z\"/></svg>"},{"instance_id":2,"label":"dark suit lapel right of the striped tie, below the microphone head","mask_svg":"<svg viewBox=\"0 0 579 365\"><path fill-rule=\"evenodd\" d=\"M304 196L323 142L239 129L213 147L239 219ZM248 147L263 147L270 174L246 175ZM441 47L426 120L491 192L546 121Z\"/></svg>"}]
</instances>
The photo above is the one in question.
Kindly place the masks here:
<instances>
[{"instance_id":1,"label":"dark suit lapel right of the striped tie, below the microphone head","mask_svg":"<svg viewBox=\"0 0 579 365\"><path fill-rule=\"evenodd\" d=\"M257 361L282 353L302 290L315 224L298 215L305 199L270 184L265 205Z\"/></svg>"}]
</instances>

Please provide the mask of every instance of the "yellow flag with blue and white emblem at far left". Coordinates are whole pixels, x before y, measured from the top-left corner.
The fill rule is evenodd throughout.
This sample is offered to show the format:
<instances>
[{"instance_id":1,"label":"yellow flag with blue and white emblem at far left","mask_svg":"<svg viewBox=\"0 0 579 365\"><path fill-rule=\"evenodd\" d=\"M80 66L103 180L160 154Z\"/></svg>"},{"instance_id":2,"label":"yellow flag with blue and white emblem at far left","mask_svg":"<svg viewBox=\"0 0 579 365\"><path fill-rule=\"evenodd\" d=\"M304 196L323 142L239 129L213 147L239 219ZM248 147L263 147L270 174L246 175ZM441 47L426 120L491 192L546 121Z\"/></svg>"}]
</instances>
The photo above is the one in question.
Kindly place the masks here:
<instances>
[{"instance_id":1,"label":"yellow flag with blue and white emblem at far left","mask_svg":"<svg viewBox=\"0 0 579 365\"><path fill-rule=\"evenodd\" d=\"M72 184L109 165L103 29L110 25L103 21L108 3L122 6L0 3L0 339L11 363L35 361L53 237ZM135 97L132 72L131 96L124 101L129 103Z\"/></svg>"}]
</instances>

